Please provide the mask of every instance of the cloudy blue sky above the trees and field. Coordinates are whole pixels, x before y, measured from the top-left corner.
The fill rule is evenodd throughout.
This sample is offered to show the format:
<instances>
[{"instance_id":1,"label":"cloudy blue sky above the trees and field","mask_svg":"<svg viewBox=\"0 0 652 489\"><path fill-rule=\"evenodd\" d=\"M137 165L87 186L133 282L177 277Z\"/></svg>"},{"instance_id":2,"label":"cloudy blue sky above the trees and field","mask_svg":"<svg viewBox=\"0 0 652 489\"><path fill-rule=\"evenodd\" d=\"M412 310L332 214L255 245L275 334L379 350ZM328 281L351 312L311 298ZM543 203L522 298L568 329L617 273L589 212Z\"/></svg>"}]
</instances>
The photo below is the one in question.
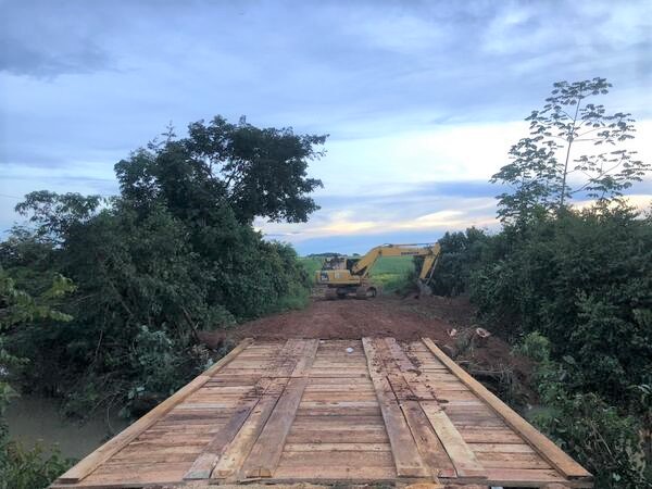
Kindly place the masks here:
<instances>
[{"instance_id":1,"label":"cloudy blue sky above the trees and field","mask_svg":"<svg viewBox=\"0 0 652 489\"><path fill-rule=\"evenodd\" d=\"M652 162L652 2L0 0L0 231L25 193L113 195L113 165L220 114L329 134L300 254L497 229L488 183L557 80L606 77ZM652 202L652 178L629 190Z\"/></svg>"}]
</instances>

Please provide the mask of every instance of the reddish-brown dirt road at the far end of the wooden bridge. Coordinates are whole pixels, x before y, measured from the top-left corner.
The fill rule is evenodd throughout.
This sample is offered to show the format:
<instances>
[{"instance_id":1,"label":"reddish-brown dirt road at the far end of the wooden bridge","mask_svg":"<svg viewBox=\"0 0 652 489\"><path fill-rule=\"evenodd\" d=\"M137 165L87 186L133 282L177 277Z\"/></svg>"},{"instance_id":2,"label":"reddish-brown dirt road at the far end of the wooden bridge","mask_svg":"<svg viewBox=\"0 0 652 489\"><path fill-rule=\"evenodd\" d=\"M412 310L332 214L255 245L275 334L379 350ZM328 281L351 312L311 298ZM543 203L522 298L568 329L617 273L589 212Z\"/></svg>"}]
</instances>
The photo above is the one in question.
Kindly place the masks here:
<instances>
[{"instance_id":1,"label":"reddish-brown dirt road at the far end of the wooden bridge","mask_svg":"<svg viewBox=\"0 0 652 489\"><path fill-rule=\"evenodd\" d=\"M476 375L493 373L502 377L507 373L513 381L525 379L531 372L530 362L514 356L511 347L497 335L480 347L465 340L473 335L476 322L474 309L464 298L314 299L304 310L275 314L228 330L202 333L201 339L216 348L225 340L233 343L247 337L360 339L389 336L399 340L429 337Z\"/></svg>"}]
</instances>

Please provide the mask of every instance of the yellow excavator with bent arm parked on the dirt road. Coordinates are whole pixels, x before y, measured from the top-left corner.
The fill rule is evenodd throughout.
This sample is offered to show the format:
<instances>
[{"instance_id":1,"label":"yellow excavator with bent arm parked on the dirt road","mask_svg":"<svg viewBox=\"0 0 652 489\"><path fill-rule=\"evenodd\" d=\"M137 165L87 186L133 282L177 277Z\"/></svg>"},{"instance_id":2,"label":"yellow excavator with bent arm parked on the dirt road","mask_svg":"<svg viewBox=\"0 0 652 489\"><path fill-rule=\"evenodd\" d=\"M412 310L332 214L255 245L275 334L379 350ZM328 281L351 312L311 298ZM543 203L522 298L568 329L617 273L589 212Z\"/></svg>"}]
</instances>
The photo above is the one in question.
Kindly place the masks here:
<instances>
[{"instance_id":1,"label":"yellow excavator with bent arm parked on the dirt road","mask_svg":"<svg viewBox=\"0 0 652 489\"><path fill-rule=\"evenodd\" d=\"M424 263L418 275L419 293L430 292L428 283L432 278L435 265L441 249L434 244L381 244L372 248L363 256L334 256L326 259L322 269L316 272L317 285L326 286L326 299L343 299L355 293L358 299L376 297L380 288L373 284L369 273L380 256L423 256Z\"/></svg>"}]
</instances>

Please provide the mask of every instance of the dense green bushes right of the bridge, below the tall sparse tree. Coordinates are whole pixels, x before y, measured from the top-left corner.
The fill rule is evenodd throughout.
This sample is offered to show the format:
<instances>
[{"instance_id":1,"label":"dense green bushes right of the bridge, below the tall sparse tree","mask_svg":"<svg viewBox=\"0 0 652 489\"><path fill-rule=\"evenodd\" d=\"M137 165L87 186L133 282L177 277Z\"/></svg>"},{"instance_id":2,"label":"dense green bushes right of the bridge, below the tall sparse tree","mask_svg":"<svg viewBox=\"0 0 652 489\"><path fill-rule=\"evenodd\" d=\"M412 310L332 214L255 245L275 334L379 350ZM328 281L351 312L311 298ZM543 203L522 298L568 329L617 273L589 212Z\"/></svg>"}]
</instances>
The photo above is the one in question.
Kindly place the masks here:
<instances>
[{"instance_id":1,"label":"dense green bushes right of the bridge, below the tall sparse tree","mask_svg":"<svg viewBox=\"0 0 652 489\"><path fill-rule=\"evenodd\" d=\"M506 224L474 252L466 238L444 237L435 290L467 289L480 321L538 362L535 424L597 487L651 485L652 216L612 201Z\"/></svg>"}]
</instances>

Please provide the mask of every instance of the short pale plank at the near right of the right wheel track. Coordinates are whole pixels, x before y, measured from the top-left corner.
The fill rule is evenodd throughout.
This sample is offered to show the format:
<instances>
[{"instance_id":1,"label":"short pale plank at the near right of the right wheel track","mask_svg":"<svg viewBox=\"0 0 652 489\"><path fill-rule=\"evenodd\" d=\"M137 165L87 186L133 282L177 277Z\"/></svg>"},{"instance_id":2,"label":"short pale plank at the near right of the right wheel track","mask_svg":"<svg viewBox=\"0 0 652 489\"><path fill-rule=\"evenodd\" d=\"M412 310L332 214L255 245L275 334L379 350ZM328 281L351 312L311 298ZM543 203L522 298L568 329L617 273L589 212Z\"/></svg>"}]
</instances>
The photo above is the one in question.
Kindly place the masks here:
<instances>
[{"instance_id":1,"label":"short pale plank at the near right of the right wheel track","mask_svg":"<svg viewBox=\"0 0 652 489\"><path fill-rule=\"evenodd\" d=\"M478 462L439 404L436 401L422 401L421 408L453 462L457 476L487 478L485 467Z\"/></svg>"}]
</instances>

